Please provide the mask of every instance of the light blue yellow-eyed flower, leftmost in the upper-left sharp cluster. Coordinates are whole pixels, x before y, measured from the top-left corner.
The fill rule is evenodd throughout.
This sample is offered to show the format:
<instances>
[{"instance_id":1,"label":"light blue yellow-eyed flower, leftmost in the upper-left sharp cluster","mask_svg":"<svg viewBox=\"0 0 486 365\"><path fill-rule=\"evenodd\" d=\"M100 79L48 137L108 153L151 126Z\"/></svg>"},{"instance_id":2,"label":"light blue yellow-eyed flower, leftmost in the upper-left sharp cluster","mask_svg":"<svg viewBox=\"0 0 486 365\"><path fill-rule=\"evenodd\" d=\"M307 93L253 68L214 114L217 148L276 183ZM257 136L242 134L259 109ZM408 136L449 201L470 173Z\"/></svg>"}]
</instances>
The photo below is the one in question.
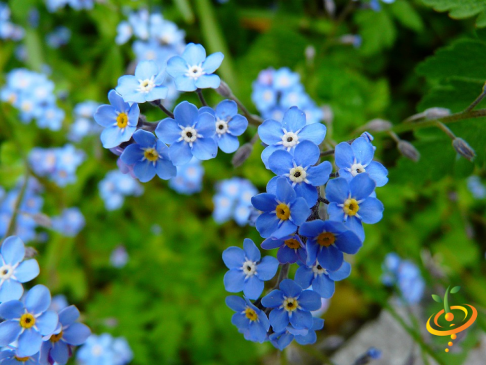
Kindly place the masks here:
<instances>
[{"instance_id":1,"label":"light blue yellow-eyed flower, leftmost in the upper-left sharp cluster","mask_svg":"<svg viewBox=\"0 0 486 365\"><path fill-rule=\"evenodd\" d=\"M94 120L104 127L101 143L105 148L117 147L132 138L137 129L140 108L138 104L128 104L115 91L108 92L111 105L101 105L94 113Z\"/></svg>"}]
</instances>

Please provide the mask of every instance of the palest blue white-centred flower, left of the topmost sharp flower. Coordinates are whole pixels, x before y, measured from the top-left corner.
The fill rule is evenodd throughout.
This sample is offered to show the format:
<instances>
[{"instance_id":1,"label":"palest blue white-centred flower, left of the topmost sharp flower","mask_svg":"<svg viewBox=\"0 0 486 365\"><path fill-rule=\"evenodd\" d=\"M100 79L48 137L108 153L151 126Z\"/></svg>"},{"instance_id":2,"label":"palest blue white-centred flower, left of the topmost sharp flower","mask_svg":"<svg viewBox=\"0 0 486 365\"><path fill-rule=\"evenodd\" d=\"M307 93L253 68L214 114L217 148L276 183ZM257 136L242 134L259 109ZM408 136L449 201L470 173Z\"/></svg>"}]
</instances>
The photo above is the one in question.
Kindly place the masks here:
<instances>
[{"instance_id":1,"label":"palest blue white-centred flower, left of the topmost sharp flower","mask_svg":"<svg viewBox=\"0 0 486 365\"><path fill-rule=\"evenodd\" d=\"M164 79L164 70L159 70L153 60L146 60L137 65L135 76L121 76L115 90L127 103L153 102L167 97Z\"/></svg>"}]
</instances>

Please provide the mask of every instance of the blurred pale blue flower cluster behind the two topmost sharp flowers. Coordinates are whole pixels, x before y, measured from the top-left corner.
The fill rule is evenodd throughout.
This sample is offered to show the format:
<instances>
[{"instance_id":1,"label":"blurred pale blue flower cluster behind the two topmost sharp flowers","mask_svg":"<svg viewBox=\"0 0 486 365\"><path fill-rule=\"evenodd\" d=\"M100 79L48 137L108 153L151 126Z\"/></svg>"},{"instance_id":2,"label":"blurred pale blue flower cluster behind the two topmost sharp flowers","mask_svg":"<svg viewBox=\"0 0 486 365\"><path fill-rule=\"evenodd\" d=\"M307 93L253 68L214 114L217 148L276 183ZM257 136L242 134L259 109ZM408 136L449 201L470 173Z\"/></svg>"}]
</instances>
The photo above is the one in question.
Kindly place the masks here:
<instances>
[{"instance_id":1,"label":"blurred pale blue flower cluster behind the two topmost sharp flowers","mask_svg":"<svg viewBox=\"0 0 486 365\"><path fill-rule=\"evenodd\" d=\"M128 21L118 24L117 44L124 44L132 37L136 38L132 49L137 62L153 60L158 67L164 67L172 56L180 56L185 47L184 31L160 13L151 14L146 9L128 14ZM162 103L169 107L178 98L179 92L171 77L165 79L164 85L168 93Z\"/></svg>"}]
</instances>

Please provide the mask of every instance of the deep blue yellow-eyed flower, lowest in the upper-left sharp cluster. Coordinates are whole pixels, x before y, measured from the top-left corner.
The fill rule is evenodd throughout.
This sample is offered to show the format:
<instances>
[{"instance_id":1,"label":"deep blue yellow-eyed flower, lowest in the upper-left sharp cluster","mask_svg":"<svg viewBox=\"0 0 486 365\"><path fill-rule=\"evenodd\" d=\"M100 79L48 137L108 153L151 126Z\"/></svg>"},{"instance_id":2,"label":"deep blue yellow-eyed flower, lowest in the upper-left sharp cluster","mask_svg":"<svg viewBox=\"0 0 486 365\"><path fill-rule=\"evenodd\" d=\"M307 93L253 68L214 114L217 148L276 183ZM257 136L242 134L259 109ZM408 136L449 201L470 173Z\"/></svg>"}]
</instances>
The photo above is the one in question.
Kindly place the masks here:
<instances>
[{"instance_id":1,"label":"deep blue yellow-eyed flower, lowest in the upper-left sharp cluster","mask_svg":"<svg viewBox=\"0 0 486 365\"><path fill-rule=\"evenodd\" d=\"M169 149L153 133L139 129L133 133L133 139L135 143L126 147L120 159L127 165L134 165L133 173L137 179L146 182L156 175L164 180L176 176Z\"/></svg>"}]
</instances>

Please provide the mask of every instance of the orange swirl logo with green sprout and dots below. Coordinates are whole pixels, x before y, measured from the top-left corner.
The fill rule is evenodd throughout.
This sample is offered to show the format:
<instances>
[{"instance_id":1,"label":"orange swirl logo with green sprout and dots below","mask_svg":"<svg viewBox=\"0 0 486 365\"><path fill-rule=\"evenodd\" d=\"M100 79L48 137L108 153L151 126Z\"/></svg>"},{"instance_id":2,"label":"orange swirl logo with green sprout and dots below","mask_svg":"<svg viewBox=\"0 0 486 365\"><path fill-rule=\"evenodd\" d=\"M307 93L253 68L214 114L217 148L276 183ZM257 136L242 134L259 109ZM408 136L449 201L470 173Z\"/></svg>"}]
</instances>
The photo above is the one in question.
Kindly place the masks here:
<instances>
[{"instance_id":1,"label":"orange swirl logo with green sprout and dots below","mask_svg":"<svg viewBox=\"0 0 486 365\"><path fill-rule=\"evenodd\" d=\"M435 334L435 336L451 336L451 339L455 340L458 338L456 334L466 330L476 321L478 311L472 305L467 304L449 307L449 293L457 293L460 290L460 286L454 286L450 291L449 289L451 289L451 286L447 288L444 295L444 309L428 318L427 330L431 334ZM432 298L437 303L442 303L442 298L439 295L433 294ZM443 318L441 318L442 314L444 314ZM431 321L432 318L433 323ZM433 325L435 326L433 327ZM447 344L449 347L453 345L452 341L449 341ZM446 352L449 352L449 348L446 348Z\"/></svg>"}]
</instances>

